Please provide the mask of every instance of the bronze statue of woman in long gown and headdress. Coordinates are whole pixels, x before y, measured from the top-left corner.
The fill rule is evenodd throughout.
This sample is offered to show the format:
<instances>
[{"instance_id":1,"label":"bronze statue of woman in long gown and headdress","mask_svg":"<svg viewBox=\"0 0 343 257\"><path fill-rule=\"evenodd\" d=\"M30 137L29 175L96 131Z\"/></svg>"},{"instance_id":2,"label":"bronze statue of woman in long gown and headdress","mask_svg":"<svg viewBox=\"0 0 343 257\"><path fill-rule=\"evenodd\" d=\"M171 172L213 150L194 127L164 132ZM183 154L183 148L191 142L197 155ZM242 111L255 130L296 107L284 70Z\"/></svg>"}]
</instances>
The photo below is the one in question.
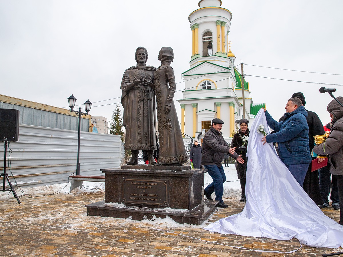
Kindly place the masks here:
<instances>
[{"instance_id":1,"label":"bronze statue of woman in long gown and headdress","mask_svg":"<svg viewBox=\"0 0 343 257\"><path fill-rule=\"evenodd\" d=\"M181 165L188 161L188 155L173 101L176 89L174 70L170 66L174 60L173 49L162 47L158 60L161 66L154 75L160 147L158 164Z\"/></svg>"}]
</instances>

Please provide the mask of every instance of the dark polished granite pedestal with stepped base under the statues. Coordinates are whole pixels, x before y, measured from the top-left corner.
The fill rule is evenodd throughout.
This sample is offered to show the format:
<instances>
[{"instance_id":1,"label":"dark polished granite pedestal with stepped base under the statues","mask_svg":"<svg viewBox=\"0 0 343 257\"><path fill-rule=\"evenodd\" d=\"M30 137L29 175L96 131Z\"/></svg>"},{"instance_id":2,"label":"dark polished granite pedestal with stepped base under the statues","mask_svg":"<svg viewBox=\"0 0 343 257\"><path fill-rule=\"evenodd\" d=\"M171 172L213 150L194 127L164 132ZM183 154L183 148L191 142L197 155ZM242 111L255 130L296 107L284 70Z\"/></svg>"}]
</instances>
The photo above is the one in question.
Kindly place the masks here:
<instances>
[{"instance_id":1,"label":"dark polished granite pedestal with stepped base under the statues","mask_svg":"<svg viewBox=\"0 0 343 257\"><path fill-rule=\"evenodd\" d=\"M86 205L91 216L133 220L165 218L200 225L218 202L204 200L205 169L188 166L130 165L102 169L105 200Z\"/></svg>"}]
</instances>

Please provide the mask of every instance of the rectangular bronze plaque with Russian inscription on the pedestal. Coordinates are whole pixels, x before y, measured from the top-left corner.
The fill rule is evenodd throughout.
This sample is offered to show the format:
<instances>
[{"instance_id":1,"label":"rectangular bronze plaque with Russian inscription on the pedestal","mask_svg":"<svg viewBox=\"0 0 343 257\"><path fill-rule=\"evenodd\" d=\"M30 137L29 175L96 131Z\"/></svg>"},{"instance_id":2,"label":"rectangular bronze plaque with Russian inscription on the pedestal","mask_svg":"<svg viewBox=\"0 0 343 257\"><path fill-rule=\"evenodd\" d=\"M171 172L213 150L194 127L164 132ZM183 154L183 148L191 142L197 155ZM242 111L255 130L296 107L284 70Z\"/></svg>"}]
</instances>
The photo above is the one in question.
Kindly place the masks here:
<instances>
[{"instance_id":1,"label":"rectangular bronze plaque with Russian inscription on the pedestal","mask_svg":"<svg viewBox=\"0 0 343 257\"><path fill-rule=\"evenodd\" d=\"M123 179L123 203L168 205L168 181L162 179Z\"/></svg>"}]
</instances>

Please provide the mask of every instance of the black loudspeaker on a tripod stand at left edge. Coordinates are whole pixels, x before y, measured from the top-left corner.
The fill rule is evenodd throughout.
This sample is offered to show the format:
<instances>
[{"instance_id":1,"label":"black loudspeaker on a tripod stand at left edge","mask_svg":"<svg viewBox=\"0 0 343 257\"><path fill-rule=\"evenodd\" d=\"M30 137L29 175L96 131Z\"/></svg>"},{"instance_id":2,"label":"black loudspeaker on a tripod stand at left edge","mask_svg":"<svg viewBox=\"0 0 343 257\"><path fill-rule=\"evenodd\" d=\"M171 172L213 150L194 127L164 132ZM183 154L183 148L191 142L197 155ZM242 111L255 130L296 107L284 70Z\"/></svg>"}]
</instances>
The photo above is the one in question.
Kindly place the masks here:
<instances>
[{"instance_id":1,"label":"black loudspeaker on a tripod stand at left edge","mask_svg":"<svg viewBox=\"0 0 343 257\"><path fill-rule=\"evenodd\" d=\"M19 110L0 109L0 141L18 141Z\"/></svg>"}]
</instances>

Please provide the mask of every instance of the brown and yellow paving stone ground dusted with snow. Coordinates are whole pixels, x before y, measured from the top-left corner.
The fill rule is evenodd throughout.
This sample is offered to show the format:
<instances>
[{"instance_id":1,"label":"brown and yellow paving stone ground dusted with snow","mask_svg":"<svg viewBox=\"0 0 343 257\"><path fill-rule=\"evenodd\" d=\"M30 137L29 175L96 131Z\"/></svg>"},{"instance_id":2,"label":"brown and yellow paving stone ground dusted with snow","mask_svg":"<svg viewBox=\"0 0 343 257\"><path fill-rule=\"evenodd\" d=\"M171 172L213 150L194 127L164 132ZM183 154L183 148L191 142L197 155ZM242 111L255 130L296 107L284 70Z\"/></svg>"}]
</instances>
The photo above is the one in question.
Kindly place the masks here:
<instances>
[{"instance_id":1,"label":"brown and yellow paving stone ground dusted with snow","mask_svg":"<svg viewBox=\"0 0 343 257\"><path fill-rule=\"evenodd\" d=\"M331 248L303 245L290 254L242 250L299 248L297 239L269 238L210 233L202 226L179 227L144 224L115 218L87 216L86 204L104 199L104 192L56 194L35 198L0 201L0 256L322 256L343 252ZM217 209L205 224L240 212L243 203L226 199L228 209ZM339 211L324 209L335 221ZM159 230L162 229L162 230Z\"/></svg>"}]
</instances>

